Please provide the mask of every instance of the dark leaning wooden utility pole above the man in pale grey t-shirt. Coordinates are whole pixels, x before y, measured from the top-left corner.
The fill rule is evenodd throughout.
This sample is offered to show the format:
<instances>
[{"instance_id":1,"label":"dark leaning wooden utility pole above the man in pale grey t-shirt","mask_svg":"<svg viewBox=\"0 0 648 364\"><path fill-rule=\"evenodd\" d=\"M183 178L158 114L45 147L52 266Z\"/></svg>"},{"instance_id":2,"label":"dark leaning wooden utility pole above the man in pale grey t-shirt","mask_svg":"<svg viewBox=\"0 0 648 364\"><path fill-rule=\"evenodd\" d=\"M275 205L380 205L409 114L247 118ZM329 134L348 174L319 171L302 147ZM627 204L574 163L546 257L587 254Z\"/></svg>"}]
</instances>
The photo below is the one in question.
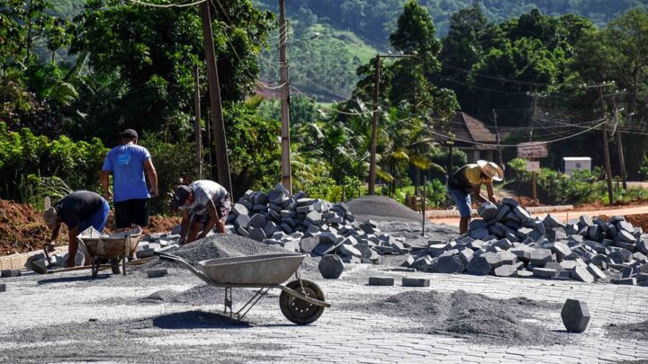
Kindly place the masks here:
<instances>
[{"instance_id":1,"label":"dark leaning wooden utility pole above the man in pale grey t-shirt","mask_svg":"<svg viewBox=\"0 0 648 364\"><path fill-rule=\"evenodd\" d=\"M211 129L213 131L213 145L216 149L216 170L218 182L230 194L231 177L229 176L229 158L227 155L227 138L225 137L225 121L223 120L220 104L220 84L218 68L216 67L216 51L213 46L213 33L211 31L210 3L204 1L200 4L202 20L202 41L205 49L205 62L207 62L207 81L210 93Z\"/></svg>"}]
</instances>

